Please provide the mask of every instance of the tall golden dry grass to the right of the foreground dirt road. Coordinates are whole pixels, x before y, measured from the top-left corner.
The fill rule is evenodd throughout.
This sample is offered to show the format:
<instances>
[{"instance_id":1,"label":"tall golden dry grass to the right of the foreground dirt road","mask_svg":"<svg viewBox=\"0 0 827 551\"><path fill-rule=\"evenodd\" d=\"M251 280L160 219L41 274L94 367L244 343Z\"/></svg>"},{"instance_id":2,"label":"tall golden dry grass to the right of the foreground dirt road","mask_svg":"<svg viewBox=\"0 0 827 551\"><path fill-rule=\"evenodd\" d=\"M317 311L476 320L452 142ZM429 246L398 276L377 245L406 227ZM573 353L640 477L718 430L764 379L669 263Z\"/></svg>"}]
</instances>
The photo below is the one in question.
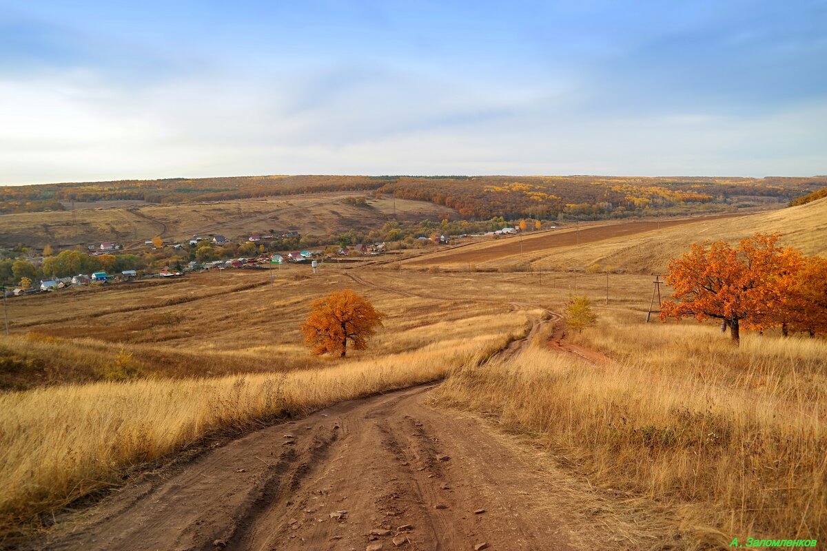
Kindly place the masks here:
<instances>
[{"instance_id":1,"label":"tall golden dry grass to the right of the foreground dirt road","mask_svg":"<svg viewBox=\"0 0 827 551\"><path fill-rule=\"evenodd\" d=\"M700 325L609 325L594 366L533 346L452 374L442 403L538 435L607 492L672 508L666 547L827 537L827 344ZM609 488L611 490L609 491Z\"/></svg>"}]
</instances>

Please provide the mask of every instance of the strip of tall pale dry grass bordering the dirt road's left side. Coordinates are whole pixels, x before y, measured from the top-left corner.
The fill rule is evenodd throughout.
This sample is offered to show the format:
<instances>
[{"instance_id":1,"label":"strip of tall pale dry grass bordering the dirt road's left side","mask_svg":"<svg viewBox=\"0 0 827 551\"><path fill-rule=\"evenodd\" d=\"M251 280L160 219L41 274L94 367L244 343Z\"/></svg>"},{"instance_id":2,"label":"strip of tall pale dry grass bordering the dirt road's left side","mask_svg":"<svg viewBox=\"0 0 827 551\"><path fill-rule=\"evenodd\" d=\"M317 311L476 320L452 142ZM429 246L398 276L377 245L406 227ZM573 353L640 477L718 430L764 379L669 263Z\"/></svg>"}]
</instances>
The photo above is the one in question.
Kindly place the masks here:
<instances>
[{"instance_id":1,"label":"strip of tall pale dry grass bordering the dirt road's left side","mask_svg":"<svg viewBox=\"0 0 827 551\"><path fill-rule=\"evenodd\" d=\"M301 416L338 401L437 380L523 335L442 340L422 349L290 373L41 387L0 395L0 528L36 523L123 468L216 430ZM324 363L324 362L323 362Z\"/></svg>"}]
</instances>

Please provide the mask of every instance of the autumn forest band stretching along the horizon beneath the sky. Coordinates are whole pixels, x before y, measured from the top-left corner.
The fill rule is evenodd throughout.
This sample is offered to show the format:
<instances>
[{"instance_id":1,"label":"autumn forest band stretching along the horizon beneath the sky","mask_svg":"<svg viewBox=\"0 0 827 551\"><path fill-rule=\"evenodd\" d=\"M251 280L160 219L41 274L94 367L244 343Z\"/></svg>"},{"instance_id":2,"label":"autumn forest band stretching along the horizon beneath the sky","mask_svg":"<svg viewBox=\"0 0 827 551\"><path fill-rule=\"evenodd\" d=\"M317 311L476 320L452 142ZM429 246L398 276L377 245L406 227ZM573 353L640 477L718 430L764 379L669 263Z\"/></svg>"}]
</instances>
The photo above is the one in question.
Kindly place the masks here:
<instances>
[{"instance_id":1,"label":"autumn forest band stretching along the horizon beneath the sky","mask_svg":"<svg viewBox=\"0 0 827 551\"><path fill-rule=\"evenodd\" d=\"M0 214L65 210L65 202L133 199L205 202L299 193L366 191L433 202L466 219L571 216L623 218L648 212L717 211L793 202L820 188L814 178L600 176L243 176L0 187Z\"/></svg>"}]
</instances>

